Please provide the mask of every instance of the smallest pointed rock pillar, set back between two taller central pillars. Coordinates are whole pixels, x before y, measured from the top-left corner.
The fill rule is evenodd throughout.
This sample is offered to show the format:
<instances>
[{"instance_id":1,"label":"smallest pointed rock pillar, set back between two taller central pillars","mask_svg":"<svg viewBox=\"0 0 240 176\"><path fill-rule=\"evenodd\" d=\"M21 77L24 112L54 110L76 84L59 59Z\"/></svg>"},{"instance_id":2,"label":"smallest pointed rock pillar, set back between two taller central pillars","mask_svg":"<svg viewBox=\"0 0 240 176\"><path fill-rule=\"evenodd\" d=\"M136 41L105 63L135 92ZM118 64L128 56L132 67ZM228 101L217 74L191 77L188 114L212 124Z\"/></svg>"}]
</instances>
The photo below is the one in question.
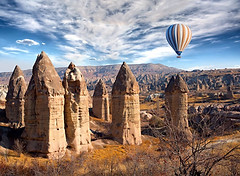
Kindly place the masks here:
<instances>
[{"instance_id":1,"label":"smallest pointed rock pillar, set back between two taller central pillars","mask_svg":"<svg viewBox=\"0 0 240 176\"><path fill-rule=\"evenodd\" d=\"M98 81L95 87L92 110L96 117L110 121L108 91L102 79Z\"/></svg>"}]
</instances>

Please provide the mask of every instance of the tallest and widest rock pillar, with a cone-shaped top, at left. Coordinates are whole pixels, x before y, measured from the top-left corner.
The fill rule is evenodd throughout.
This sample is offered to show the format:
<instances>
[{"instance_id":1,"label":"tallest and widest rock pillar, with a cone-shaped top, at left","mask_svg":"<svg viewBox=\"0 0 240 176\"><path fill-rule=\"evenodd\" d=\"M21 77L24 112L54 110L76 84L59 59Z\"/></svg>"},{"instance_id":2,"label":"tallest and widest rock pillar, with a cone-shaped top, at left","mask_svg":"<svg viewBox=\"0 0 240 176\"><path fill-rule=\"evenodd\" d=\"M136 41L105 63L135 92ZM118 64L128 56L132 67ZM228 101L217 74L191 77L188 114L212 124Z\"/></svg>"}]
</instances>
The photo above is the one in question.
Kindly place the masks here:
<instances>
[{"instance_id":1,"label":"tallest and widest rock pillar, with a cone-shaped top, at left","mask_svg":"<svg viewBox=\"0 0 240 176\"><path fill-rule=\"evenodd\" d=\"M37 56L25 94L26 151L59 158L66 151L64 89L52 62L44 53Z\"/></svg>"}]
</instances>

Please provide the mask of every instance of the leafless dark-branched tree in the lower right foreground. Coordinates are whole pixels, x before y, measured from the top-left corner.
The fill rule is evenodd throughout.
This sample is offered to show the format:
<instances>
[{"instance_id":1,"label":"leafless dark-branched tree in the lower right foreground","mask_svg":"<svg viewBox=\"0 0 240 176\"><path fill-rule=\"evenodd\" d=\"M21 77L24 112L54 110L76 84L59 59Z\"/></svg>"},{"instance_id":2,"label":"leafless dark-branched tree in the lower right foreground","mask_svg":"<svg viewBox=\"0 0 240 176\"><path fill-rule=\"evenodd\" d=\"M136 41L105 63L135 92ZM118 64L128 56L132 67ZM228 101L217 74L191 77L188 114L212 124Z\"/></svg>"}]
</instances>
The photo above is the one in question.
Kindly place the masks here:
<instances>
[{"instance_id":1,"label":"leafless dark-branched tree in the lower right foreground","mask_svg":"<svg viewBox=\"0 0 240 176\"><path fill-rule=\"evenodd\" d=\"M171 115L170 112L168 114ZM161 142L159 150L162 157L171 163L167 170L176 176L208 176L222 162L233 157L240 158L236 154L240 145L227 147L226 140L211 140L209 125L212 124L201 125L201 133L192 130L192 138L189 139L184 135L184 129L174 126L170 118L165 118L167 135L159 132L157 134ZM222 126L217 128L216 131L222 131Z\"/></svg>"}]
</instances>

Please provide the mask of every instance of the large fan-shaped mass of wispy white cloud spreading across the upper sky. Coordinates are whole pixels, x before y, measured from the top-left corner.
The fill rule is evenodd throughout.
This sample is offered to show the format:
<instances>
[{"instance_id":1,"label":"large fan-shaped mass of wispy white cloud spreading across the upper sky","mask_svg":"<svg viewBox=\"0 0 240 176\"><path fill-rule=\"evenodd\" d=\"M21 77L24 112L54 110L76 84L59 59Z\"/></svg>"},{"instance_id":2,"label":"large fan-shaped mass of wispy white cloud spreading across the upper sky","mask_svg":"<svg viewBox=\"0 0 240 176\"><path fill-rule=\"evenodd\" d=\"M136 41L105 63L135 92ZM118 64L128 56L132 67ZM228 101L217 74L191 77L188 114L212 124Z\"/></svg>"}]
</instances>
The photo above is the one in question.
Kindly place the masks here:
<instances>
[{"instance_id":1,"label":"large fan-shaped mass of wispy white cloud spreading across the upper sky","mask_svg":"<svg viewBox=\"0 0 240 176\"><path fill-rule=\"evenodd\" d=\"M239 0L16 0L1 4L0 18L23 30L64 39L65 44L58 45L63 58L109 63L128 56L140 63L175 54L165 40L169 25L187 24L193 40L214 39L239 28L239 7Z\"/></svg>"}]
</instances>

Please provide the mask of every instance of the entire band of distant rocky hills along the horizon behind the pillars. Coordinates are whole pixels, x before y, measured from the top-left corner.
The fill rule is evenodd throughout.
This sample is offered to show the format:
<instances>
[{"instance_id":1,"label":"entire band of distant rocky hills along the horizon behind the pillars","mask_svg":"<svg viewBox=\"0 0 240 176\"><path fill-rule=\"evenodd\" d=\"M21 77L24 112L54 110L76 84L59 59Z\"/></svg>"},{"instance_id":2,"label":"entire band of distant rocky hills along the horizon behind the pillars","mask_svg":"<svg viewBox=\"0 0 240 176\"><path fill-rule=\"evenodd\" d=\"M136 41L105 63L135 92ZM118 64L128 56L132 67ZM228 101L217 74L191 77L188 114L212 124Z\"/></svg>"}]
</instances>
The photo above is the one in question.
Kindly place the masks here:
<instances>
[{"instance_id":1,"label":"entire band of distant rocky hills along the horizon behind the pillars","mask_svg":"<svg viewBox=\"0 0 240 176\"><path fill-rule=\"evenodd\" d=\"M171 76L176 73L181 74L187 82L188 88L192 91L226 91L228 86L231 86L233 90L240 89L240 69L182 71L162 64L135 64L129 66L136 76L142 94L164 90ZM115 81L119 68L120 65L79 67L91 94L100 78L104 80L107 89L111 91L111 86ZM63 78L66 68L56 68L56 70L60 77ZM31 77L31 70L23 72L28 82ZM11 72L0 73L0 85L8 84L10 76Z\"/></svg>"}]
</instances>

